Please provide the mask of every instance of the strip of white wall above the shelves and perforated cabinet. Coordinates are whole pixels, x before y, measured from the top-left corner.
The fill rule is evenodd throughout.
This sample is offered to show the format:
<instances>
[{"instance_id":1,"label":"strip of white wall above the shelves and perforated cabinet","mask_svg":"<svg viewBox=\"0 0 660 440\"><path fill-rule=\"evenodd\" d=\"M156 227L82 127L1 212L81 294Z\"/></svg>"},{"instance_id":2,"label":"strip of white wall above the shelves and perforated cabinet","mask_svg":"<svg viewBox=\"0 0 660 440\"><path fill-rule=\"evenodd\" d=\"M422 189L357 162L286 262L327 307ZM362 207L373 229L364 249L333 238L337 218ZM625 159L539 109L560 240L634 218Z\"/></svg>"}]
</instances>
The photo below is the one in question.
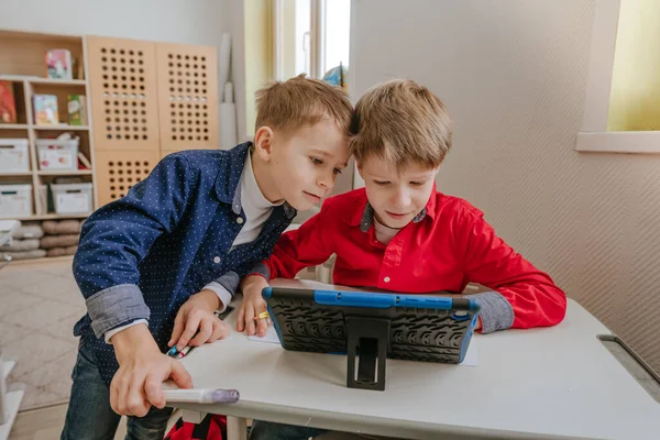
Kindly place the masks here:
<instances>
[{"instance_id":1,"label":"strip of white wall above the shelves and perforated cabinet","mask_svg":"<svg viewBox=\"0 0 660 440\"><path fill-rule=\"evenodd\" d=\"M2 0L0 28L218 45L224 8L220 0Z\"/></svg>"}]
</instances>

